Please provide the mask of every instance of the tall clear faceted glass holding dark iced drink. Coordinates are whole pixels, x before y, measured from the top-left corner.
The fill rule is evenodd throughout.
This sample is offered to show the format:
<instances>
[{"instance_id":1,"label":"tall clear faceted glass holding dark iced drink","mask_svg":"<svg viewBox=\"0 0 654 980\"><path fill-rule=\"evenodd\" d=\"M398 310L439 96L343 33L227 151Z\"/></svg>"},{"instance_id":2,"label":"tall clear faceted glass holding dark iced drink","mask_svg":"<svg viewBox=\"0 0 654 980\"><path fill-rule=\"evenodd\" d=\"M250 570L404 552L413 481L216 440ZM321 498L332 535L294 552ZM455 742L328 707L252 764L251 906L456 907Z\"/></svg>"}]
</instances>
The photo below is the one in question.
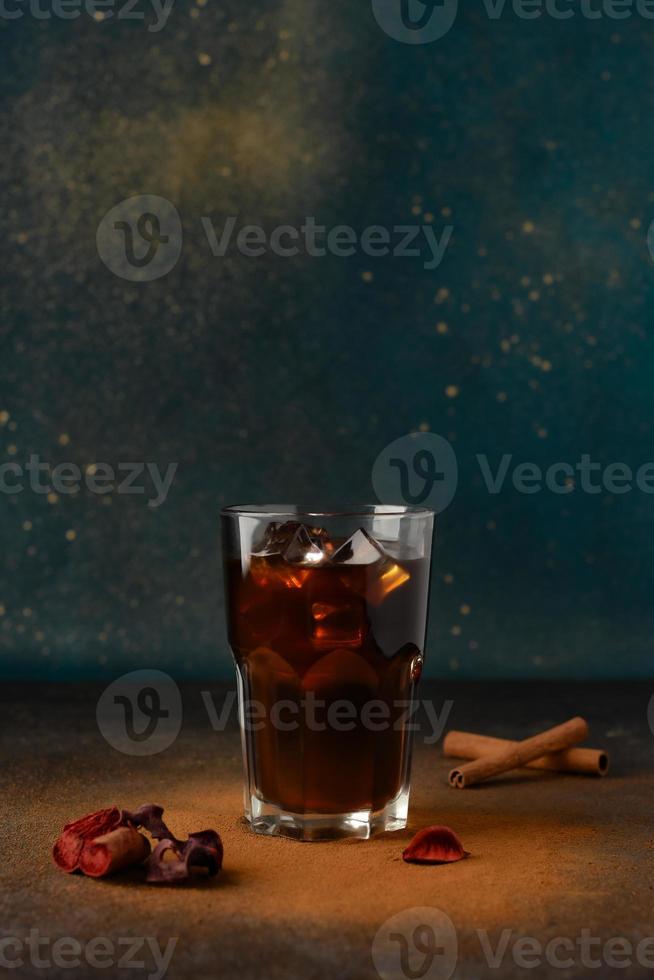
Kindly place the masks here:
<instances>
[{"instance_id":1,"label":"tall clear faceted glass holding dark iced drink","mask_svg":"<svg viewBox=\"0 0 654 980\"><path fill-rule=\"evenodd\" d=\"M406 826L434 515L222 512L253 830L300 840Z\"/></svg>"}]
</instances>

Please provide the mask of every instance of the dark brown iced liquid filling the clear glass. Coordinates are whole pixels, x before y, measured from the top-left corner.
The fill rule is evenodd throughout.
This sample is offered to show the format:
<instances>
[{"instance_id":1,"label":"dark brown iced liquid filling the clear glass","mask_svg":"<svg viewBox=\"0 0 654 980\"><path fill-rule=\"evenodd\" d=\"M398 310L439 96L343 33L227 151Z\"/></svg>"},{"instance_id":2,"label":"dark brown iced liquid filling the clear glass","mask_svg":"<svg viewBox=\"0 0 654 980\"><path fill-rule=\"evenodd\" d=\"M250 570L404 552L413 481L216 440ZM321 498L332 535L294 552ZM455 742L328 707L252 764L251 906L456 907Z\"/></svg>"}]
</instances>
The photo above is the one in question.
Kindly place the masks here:
<instances>
[{"instance_id":1,"label":"dark brown iced liquid filling the clear glass","mask_svg":"<svg viewBox=\"0 0 654 980\"><path fill-rule=\"evenodd\" d=\"M398 702L411 701L420 675L428 574L425 559L308 567L252 556L246 571L227 562L230 644L244 698L262 705L249 736L260 798L345 813L398 795L409 754ZM351 730L337 730L343 723Z\"/></svg>"}]
</instances>

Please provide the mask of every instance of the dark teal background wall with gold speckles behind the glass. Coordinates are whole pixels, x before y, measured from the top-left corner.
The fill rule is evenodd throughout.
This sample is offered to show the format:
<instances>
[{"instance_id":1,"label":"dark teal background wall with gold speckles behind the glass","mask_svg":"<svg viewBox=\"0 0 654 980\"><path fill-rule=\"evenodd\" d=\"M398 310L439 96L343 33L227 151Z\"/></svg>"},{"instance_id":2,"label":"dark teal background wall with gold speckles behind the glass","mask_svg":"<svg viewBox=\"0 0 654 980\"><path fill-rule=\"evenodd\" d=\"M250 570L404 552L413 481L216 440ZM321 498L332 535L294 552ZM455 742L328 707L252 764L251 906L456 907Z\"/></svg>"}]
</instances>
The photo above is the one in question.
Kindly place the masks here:
<instances>
[{"instance_id":1,"label":"dark teal background wall with gold speckles behind the glass","mask_svg":"<svg viewBox=\"0 0 654 980\"><path fill-rule=\"evenodd\" d=\"M141 7L145 10L145 6ZM0 22L2 462L179 464L165 503L0 494L0 672L229 676L218 511L371 500L446 436L432 675L652 673L654 497L489 494L475 456L654 459L654 22L490 21L433 44L365 0L176 0L165 27ZM157 194L175 268L96 230ZM429 223L444 261L214 257L221 226Z\"/></svg>"}]
</instances>

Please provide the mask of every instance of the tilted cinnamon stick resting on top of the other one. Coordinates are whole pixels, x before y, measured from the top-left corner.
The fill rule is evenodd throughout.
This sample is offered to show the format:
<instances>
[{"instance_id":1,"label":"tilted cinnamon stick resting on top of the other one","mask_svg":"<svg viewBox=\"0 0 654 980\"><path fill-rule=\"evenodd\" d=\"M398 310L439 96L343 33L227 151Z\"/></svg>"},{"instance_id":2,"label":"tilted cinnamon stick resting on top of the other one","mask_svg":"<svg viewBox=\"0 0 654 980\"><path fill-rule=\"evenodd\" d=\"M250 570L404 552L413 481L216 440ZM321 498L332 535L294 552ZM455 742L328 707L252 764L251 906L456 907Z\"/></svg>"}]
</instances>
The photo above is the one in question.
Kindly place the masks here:
<instances>
[{"instance_id":1,"label":"tilted cinnamon stick resting on top of the other one","mask_svg":"<svg viewBox=\"0 0 654 980\"><path fill-rule=\"evenodd\" d=\"M520 769L527 763L539 759L542 755L551 752L560 752L568 749L578 742L583 742L588 737L588 725L583 718L571 718L563 725L556 725L554 728L533 735L523 742L499 749L491 755L475 759L473 762L466 762L464 765L453 769L450 773L450 786L457 789L465 789L467 786L474 786L485 779L492 779L502 773L510 772L512 769Z\"/></svg>"}]
</instances>

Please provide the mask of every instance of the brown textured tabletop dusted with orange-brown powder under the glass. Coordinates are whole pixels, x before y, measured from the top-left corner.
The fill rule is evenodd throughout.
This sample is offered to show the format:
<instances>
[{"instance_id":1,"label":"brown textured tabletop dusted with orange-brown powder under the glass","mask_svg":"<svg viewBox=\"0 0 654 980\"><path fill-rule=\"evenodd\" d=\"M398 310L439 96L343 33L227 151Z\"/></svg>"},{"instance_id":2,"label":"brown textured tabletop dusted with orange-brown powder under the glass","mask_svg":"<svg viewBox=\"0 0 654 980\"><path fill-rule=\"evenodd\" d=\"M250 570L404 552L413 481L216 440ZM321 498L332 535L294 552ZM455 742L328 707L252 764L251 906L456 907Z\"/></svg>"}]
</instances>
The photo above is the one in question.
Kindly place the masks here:
<instances>
[{"instance_id":1,"label":"brown textured tabletop dusted with orange-brown powder under the glass","mask_svg":"<svg viewBox=\"0 0 654 980\"><path fill-rule=\"evenodd\" d=\"M652 975L654 941L645 941L654 936L654 683L425 684L421 696L437 712L453 702L447 727L520 738L583 714L592 744L610 752L611 772L598 779L522 771L458 791L447 786L449 763L439 745L419 735L407 831L320 844L246 829L234 718L226 731L214 731L202 691L222 705L226 689L219 685L184 687L179 737L160 755L139 759L100 735L100 687L3 687L0 927L16 942L0 949L8 960L23 960L8 975L156 976L150 946L130 954L141 966L119 968L117 951L127 953L130 937L161 947L176 937L169 978L367 980L379 976L372 948L385 921L424 907L451 920L455 946L437 953L429 968L424 957L411 959L407 972L387 956L382 976ZM146 801L165 806L178 835L215 827L225 845L223 872L161 887L144 884L138 871L94 881L55 869L50 848L64 823L109 804ZM454 828L470 858L405 864L406 842L434 823ZM412 915L408 941L421 913ZM85 949L107 937L113 966L38 966L25 942L30 930L48 939L43 962L52 961L59 938ZM524 937L533 941L520 944ZM623 942L606 947L614 937ZM562 942L547 947L553 939Z\"/></svg>"}]
</instances>

